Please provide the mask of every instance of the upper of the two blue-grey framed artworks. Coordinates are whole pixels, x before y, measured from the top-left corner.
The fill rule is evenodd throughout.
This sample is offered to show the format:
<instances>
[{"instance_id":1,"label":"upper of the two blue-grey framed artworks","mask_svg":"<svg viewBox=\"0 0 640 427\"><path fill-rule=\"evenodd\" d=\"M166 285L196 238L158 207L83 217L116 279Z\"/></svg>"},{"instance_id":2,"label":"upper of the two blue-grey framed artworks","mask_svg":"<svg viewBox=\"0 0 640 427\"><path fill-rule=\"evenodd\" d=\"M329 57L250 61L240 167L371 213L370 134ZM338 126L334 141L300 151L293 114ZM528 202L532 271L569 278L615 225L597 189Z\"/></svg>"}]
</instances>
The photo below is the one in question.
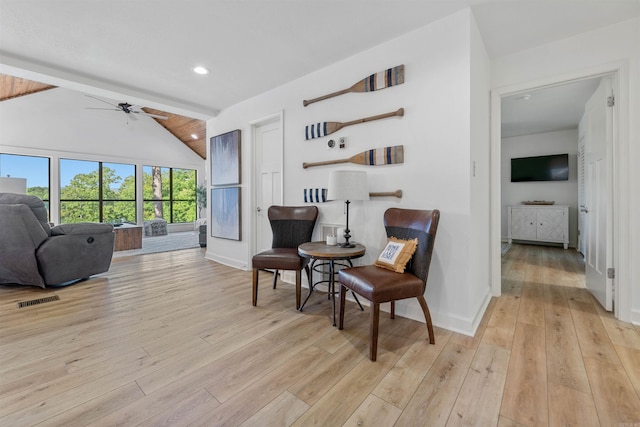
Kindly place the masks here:
<instances>
[{"instance_id":1,"label":"upper of the two blue-grey framed artworks","mask_svg":"<svg viewBox=\"0 0 640 427\"><path fill-rule=\"evenodd\" d=\"M240 184L240 129L211 138L211 185Z\"/></svg>"}]
</instances>

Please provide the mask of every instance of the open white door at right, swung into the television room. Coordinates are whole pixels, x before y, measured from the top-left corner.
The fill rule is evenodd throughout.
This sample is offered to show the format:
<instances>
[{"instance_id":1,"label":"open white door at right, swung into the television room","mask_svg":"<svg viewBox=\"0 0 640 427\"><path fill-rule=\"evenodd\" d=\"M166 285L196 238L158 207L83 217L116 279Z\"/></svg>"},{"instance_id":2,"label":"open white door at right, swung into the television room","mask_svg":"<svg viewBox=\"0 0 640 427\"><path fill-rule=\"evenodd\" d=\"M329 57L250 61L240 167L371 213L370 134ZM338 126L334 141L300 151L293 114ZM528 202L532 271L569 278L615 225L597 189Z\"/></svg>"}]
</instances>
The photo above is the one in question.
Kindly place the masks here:
<instances>
[{"instance_id":1,"label":"open white door at right, swung into the television room","mask_svg":"<svg viewBox=\"0 0 640 427\"><path fill-rule=\"evenodd\" d=\"M586 286L602 306L613 309L613 194L611 147L613 108L611 79L605 77L585 107L585 269Z\"/></svg>"}]
</instances>

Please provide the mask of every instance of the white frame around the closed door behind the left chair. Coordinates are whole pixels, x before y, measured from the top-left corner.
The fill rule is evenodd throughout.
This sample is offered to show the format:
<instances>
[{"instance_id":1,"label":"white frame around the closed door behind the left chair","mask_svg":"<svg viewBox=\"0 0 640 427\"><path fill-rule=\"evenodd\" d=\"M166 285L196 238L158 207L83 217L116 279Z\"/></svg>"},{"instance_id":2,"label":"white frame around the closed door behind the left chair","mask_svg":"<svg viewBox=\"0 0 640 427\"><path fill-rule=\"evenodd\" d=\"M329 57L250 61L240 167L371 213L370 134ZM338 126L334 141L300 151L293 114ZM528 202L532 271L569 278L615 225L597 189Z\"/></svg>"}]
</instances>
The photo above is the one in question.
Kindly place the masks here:
<instances>
[{"instance_id":1,"label":"white frame around the closed door behind the left chair","mask_svg":"<svg viewBox=\"0 0 640 427\"><path fill-rule=\"evenodd\" d=\"M256 198L257 198L257 194L258 194L258 164L257 164L257 158L256 158L256 143L257 143L257 138L256 138L256 129L258 129L260 126L265 125L267 123L272 123L272 122L278 122L279 126L280 126L280 154L281 154L281 158L280 158L280 191L282 194L282 197L284 198L284 111L279 111L277 113L273 113L270 114L268 116L262 117L260 119L257 120L253 120L251 122L249 122L249 135L251 138L251 191L250 191L250 197L251 197L251 204L250 204L250 208L251 209L251 221L249 221L249 223L251 224L251 230L249 230L249 236L250 237L250 241L249 244L247 245L247 250L249 251L247 259L251 260L251 258L253 257L253 255L257 252L256 249L256 245L258 244L258 238L257 238L257 221L258 221L258 215L256 214L256 209L257 209L257 204L256 204Z\"/></svg>"}]
</instances>

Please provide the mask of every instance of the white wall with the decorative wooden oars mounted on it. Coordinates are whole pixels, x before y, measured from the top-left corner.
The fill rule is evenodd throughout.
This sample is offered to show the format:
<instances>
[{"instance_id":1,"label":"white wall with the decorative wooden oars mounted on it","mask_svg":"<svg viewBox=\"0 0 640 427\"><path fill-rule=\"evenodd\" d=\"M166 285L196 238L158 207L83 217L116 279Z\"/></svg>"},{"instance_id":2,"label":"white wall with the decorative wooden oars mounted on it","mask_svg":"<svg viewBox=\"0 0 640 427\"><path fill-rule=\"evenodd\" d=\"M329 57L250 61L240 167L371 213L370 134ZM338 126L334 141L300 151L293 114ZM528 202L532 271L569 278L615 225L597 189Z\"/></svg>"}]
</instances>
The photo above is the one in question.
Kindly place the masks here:
<instances>
[{"instance_id":1,"label":"white wall with the decorative wooden oars mounted on it","mask_svg":"<svg viewBox=\"0 0 640 427\"><path fill-rule=\"evenodd\" d=\"M472 50L480 50L473 64ZM348 87L373 72L399 64L405 64L403 85L302 106L303 99ZM472 70L480 73L473 81L482 87L473 96ZM255 209L250 184L253 177L248 167L253 160L248 150L248 123L284 111L284 203L302 205L303 189L326 188L329 171L334 169L364 168L370 191L403 190L402 199L374 198L351 204L352 235L367 247L366 256L359 260L362 264L370 264L386 242L382 216L387 208L440 209L427 301L435 324L472 334L489 295L486 248L478 255L469 245L470 240L476 246L477 242L488 242L487 227L477 227L471 219L470 187L473 143L479 147L475 160L482 171L477 186L480 194L474 201L475 197L489 199L488 154L483 152L488 146L488 81L488 59L471 13L465 10L223 111L207 123L207 135L236 128L243 131L243 235L247 235L247 228L251 232ZM484 111L475 110L472 115L471 102L483 104ZM402 118L350 126L329 137L304 140L307 124L344 122L399 107L405 108ZM473 142L472 128L477 130ZM347 137L347 148L328 150L327 141L340 136ZM401 144L404 164L302 168L305 161L348 158L367 149ZM344 223L344 203L328 202L318 207L319 223ZM319 230L315 234L315 239L322 238ZM250 268L252 250L249 238L234 242L209 237L207 242L207 257L239 268ZM400 302L396 312L422 319L415 300Z\"/></svg>"}]
</instances>

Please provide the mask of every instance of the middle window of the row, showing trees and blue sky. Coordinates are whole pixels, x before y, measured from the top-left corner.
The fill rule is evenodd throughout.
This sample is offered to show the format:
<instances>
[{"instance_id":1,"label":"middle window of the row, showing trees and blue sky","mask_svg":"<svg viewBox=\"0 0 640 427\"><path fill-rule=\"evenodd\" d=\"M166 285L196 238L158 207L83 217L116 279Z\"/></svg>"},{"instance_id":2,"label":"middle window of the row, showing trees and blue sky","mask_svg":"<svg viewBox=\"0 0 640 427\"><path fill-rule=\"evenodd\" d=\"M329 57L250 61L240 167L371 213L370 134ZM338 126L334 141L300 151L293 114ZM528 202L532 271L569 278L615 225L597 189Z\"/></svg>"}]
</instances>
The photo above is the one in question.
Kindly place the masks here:
<instances>
[{"instance_id":1,"label":"middle window of the row, showing trees and blue sky","mask_svg":"<svg viewBox=\"0 0 640 427\"><path fill-rule=\"evenodd\" d=\"M60 159L60 222L136 222L136 168Z\"/></svg>"}]
</instances>

